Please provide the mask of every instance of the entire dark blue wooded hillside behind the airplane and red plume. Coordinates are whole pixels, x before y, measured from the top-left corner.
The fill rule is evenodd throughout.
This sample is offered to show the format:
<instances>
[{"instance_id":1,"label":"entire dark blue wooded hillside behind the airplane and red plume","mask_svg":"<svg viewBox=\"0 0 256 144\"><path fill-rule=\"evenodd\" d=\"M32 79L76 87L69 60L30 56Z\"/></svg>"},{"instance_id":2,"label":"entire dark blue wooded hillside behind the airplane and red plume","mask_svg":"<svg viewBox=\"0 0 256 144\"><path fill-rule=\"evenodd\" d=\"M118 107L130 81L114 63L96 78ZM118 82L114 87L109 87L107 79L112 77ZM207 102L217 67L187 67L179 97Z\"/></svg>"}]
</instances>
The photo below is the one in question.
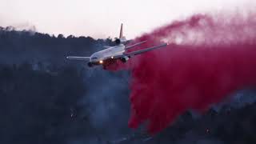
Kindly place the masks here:
<instances>
[{"instance_id":1,"label":"entire dark blue wooded hillside behind the airplane and red plume","mask_svg":"<svg viewBox=\"0 0 256 144\"><path fill-rule=\"evenodd\" d=\"M186 112L154 138L130 130L129 74L66 61L67 55L88 56L103 45L114 42L0 27L0 143L256 142L252 101L202 115Z\"/></svg>"}]
</instances>

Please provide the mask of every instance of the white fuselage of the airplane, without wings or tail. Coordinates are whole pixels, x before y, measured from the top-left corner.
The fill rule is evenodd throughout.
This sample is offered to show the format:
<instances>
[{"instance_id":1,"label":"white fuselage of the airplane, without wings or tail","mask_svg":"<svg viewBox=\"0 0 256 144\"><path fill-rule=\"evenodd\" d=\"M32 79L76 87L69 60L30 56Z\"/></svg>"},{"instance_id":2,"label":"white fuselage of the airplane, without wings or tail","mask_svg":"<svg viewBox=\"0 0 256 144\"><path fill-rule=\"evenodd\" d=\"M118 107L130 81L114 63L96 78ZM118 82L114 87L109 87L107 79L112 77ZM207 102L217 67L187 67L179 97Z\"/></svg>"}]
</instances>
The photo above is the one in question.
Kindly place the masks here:
<instances>
[{"instance_id":1,"label":"white fuselage of the airplane, without wings or tail","mask_svg":"<svg viewBox=\"0 0 256 144\"><path fill-rule=\"evenodd\" d=\"M105 50L98 51L90 56L90 62L100 62L107 58L114 57L125 52L126 46L120 44L118 46L111 46Z\"/></svg>"}]
</instances>

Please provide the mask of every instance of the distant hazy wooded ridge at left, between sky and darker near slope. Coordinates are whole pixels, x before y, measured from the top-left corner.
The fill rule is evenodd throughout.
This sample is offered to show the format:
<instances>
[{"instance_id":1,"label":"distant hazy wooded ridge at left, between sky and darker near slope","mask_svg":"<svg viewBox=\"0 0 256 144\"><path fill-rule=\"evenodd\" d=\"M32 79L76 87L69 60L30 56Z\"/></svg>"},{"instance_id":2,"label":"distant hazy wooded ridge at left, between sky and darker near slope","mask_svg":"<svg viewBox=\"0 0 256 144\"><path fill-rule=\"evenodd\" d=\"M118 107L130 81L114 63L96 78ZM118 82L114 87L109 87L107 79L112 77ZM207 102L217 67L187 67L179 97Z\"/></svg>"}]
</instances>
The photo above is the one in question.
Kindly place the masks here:
<instances>
[{"instance_id":1,"label":"distant hazy wooded ridge at left, between sky and darker near slope","mask_svg":"<svg viewBox=\"0 0 256 144\"><path fill-rule=\"evenodd\" d=\"M90 37L65 38L33 31L16 31L12 27L0 27L0 61L3 63L50 62L63 65L68 55L90 56L103 45L113 46L112 39Z\"/></svg>"}]
</instances>

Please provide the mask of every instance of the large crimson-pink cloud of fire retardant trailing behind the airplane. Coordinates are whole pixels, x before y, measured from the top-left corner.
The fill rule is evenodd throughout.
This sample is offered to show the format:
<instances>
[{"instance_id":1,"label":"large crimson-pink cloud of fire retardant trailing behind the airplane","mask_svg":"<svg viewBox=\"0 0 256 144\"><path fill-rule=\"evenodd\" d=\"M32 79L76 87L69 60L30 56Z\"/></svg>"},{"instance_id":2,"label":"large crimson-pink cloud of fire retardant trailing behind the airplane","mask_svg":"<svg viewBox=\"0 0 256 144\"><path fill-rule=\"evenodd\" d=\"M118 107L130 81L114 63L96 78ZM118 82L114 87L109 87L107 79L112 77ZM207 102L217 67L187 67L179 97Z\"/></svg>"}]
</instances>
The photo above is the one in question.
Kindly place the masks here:
<instances>
[{"instance_id":1,"label":"large crimson-pink cloud of fire retardant trailing behind the airplane","mask_svg":"<svg viewBox=\"0 0 256 144\"><path fill-rule=\"evenodd\" d=\"M125 65L131 71L129 126L146 122L150 134L170 126L186 110L207 110L236 90L256 84L256 19L198 14L144 34L140 54Z\"/></svg>"}]
</instances>

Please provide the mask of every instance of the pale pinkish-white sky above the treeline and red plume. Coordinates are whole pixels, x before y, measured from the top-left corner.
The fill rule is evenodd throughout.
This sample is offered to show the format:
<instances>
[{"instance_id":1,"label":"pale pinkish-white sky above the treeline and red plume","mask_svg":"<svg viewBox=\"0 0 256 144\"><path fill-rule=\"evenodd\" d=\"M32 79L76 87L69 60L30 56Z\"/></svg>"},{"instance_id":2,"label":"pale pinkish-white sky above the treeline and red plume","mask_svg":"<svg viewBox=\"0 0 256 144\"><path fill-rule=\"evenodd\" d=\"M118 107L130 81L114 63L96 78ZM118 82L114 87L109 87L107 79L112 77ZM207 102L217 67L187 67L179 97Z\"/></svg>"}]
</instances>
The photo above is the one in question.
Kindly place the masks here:
<instances>
[{"instance_id":1,"label":"pale pinkish-white sky above the treeline and red plume","mask_svg":"<svg viewBox=\"0 0 256 144\"><path fill-rule=\"evenodd\" d=\"M36 26L42 33L134 38L174 19L248 6L254 0L0 0L0 26Z\"/></svg>"}]
</instances>

